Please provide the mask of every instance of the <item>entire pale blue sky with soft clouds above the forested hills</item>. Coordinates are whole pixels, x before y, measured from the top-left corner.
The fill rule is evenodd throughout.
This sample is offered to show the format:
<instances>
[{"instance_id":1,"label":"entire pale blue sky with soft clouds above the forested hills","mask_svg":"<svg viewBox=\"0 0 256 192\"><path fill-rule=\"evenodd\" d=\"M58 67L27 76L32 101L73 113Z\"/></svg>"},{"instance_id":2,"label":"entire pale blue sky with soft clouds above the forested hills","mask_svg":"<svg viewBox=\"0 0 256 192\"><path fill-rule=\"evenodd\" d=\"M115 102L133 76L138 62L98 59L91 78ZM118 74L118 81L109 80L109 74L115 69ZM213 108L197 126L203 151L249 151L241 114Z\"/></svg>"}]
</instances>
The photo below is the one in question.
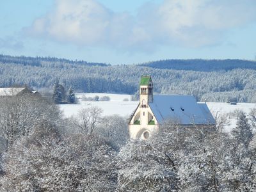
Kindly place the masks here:
<instances>
[{"instance_id":1,"label":"entire pale blue sky with soft clouds above the forested hills","mask_svg":"<svg viewBox=\"0 0 256 192\"><path fill-rule=\"evenodd\" d=\"M256 59L255 0L3 0L0 29L0 54L13 56Z\"/></svg>"}]
</instances>

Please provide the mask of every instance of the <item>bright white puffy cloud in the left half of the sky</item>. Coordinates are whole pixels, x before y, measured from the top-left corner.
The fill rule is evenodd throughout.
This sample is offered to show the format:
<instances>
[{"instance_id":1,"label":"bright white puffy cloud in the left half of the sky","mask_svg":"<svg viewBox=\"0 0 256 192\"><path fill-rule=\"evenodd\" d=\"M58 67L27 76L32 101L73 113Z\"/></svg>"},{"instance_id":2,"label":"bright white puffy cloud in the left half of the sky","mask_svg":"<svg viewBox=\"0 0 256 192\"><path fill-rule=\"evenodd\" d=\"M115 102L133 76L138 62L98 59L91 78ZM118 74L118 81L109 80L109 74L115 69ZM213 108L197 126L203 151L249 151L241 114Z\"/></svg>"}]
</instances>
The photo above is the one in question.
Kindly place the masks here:
<instances>
[{"instance_id":1,"label":"bright white puffy cloud in the left half of the sky","mask_svg":"<svg viewBox=\"0 0 256 192\"><path fill-rule=\"evenodd\" d=\"M46 17L35 20L32 32L63 42L95 44L104 38L111 13L92 0L58 0Z\"/></svg>"}]
</instances>

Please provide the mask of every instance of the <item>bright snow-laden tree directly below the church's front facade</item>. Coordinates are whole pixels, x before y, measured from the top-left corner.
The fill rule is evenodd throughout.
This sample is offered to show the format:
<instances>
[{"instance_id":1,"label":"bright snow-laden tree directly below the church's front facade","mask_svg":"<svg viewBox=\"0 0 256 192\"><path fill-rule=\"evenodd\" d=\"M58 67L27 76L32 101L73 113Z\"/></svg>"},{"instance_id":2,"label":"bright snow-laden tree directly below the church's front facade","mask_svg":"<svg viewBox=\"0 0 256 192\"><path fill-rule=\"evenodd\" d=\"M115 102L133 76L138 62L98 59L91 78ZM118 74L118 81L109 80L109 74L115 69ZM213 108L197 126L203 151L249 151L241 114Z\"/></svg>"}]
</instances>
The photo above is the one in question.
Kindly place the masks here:
<instances>
[{"instance_id":1,"label":"bright snow-laden tree directly below the church's front facade","mask_svg":"<svg viewBox=\"0 0 256 192\"><path fill-rule=\"evenodd\" d=\"M179 180L173 165L164 153L159 155L149 141L129 141L118 157L118 191L178 189Z\"/></svg>"}]
</instances>

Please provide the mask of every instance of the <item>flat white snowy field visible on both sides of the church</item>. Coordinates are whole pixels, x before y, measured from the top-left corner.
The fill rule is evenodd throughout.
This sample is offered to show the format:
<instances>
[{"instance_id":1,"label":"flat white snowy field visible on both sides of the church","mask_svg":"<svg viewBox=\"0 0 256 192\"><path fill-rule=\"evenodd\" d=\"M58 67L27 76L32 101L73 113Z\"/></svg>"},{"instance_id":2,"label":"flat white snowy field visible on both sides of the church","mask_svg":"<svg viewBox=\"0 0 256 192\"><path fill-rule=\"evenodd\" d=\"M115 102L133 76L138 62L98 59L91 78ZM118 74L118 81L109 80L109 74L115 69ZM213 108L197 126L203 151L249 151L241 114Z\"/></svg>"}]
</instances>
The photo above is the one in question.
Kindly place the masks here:
<instances>
[{"instance_id":1,"label":"flat white snowy field visible on both sides of the church","mask_svg":"<svg viewBox=\"0 0 256 192\"><path fill-rule=\"evenodd\" d=\"M82 101L83 95L85 97L99 97L108 96L110 97L109 101ZM60 108L63 111L65 116L76 116L77 111L83 108L89 108L90 106L98 106L103 109L103 115L114 115L118 114L120 116L128 117L131 115L132 111L136 109L138 101L131 101L131 95L122 95L122 94L110 94L110 93L77 93L76 97L79 99L79 104L61 104ZM129 101L124 101L124 99L129 99ZM213 116L230 114L236 109L241 109L245 113L249 113L250 109L256 108L256 104L252 103L237 103L237 105L230 105L228 103L220 102L207 102L207 106L212 112ZM236 119L229 116L230 125L226 127L226 131L229 131L231 127L236 126Z\"/></svg>"}]
</instances>

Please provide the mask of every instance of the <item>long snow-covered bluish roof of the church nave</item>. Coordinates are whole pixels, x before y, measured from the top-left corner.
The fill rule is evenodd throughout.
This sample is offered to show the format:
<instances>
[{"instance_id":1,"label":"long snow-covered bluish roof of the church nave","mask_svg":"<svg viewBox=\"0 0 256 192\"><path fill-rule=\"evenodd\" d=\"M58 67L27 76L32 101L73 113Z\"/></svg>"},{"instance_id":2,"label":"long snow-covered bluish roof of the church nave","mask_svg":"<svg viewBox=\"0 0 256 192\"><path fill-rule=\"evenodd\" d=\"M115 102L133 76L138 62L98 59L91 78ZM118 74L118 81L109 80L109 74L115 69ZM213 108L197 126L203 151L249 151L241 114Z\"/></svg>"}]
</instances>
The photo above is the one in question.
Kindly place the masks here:
<instances>
[{"instance_id":1,"label":"long snow-covered bluish roof of the church nave","mask_svg":"<svg viewBox=\"0 0 256 192\"><path fill-rule=\"evenodd\" d=\"M189 95L154 95L153 102L148 102L159 124L164 120L173 120L180 125L215 124L205 103L197 103Z\"/></svg>"}]
</instances>

